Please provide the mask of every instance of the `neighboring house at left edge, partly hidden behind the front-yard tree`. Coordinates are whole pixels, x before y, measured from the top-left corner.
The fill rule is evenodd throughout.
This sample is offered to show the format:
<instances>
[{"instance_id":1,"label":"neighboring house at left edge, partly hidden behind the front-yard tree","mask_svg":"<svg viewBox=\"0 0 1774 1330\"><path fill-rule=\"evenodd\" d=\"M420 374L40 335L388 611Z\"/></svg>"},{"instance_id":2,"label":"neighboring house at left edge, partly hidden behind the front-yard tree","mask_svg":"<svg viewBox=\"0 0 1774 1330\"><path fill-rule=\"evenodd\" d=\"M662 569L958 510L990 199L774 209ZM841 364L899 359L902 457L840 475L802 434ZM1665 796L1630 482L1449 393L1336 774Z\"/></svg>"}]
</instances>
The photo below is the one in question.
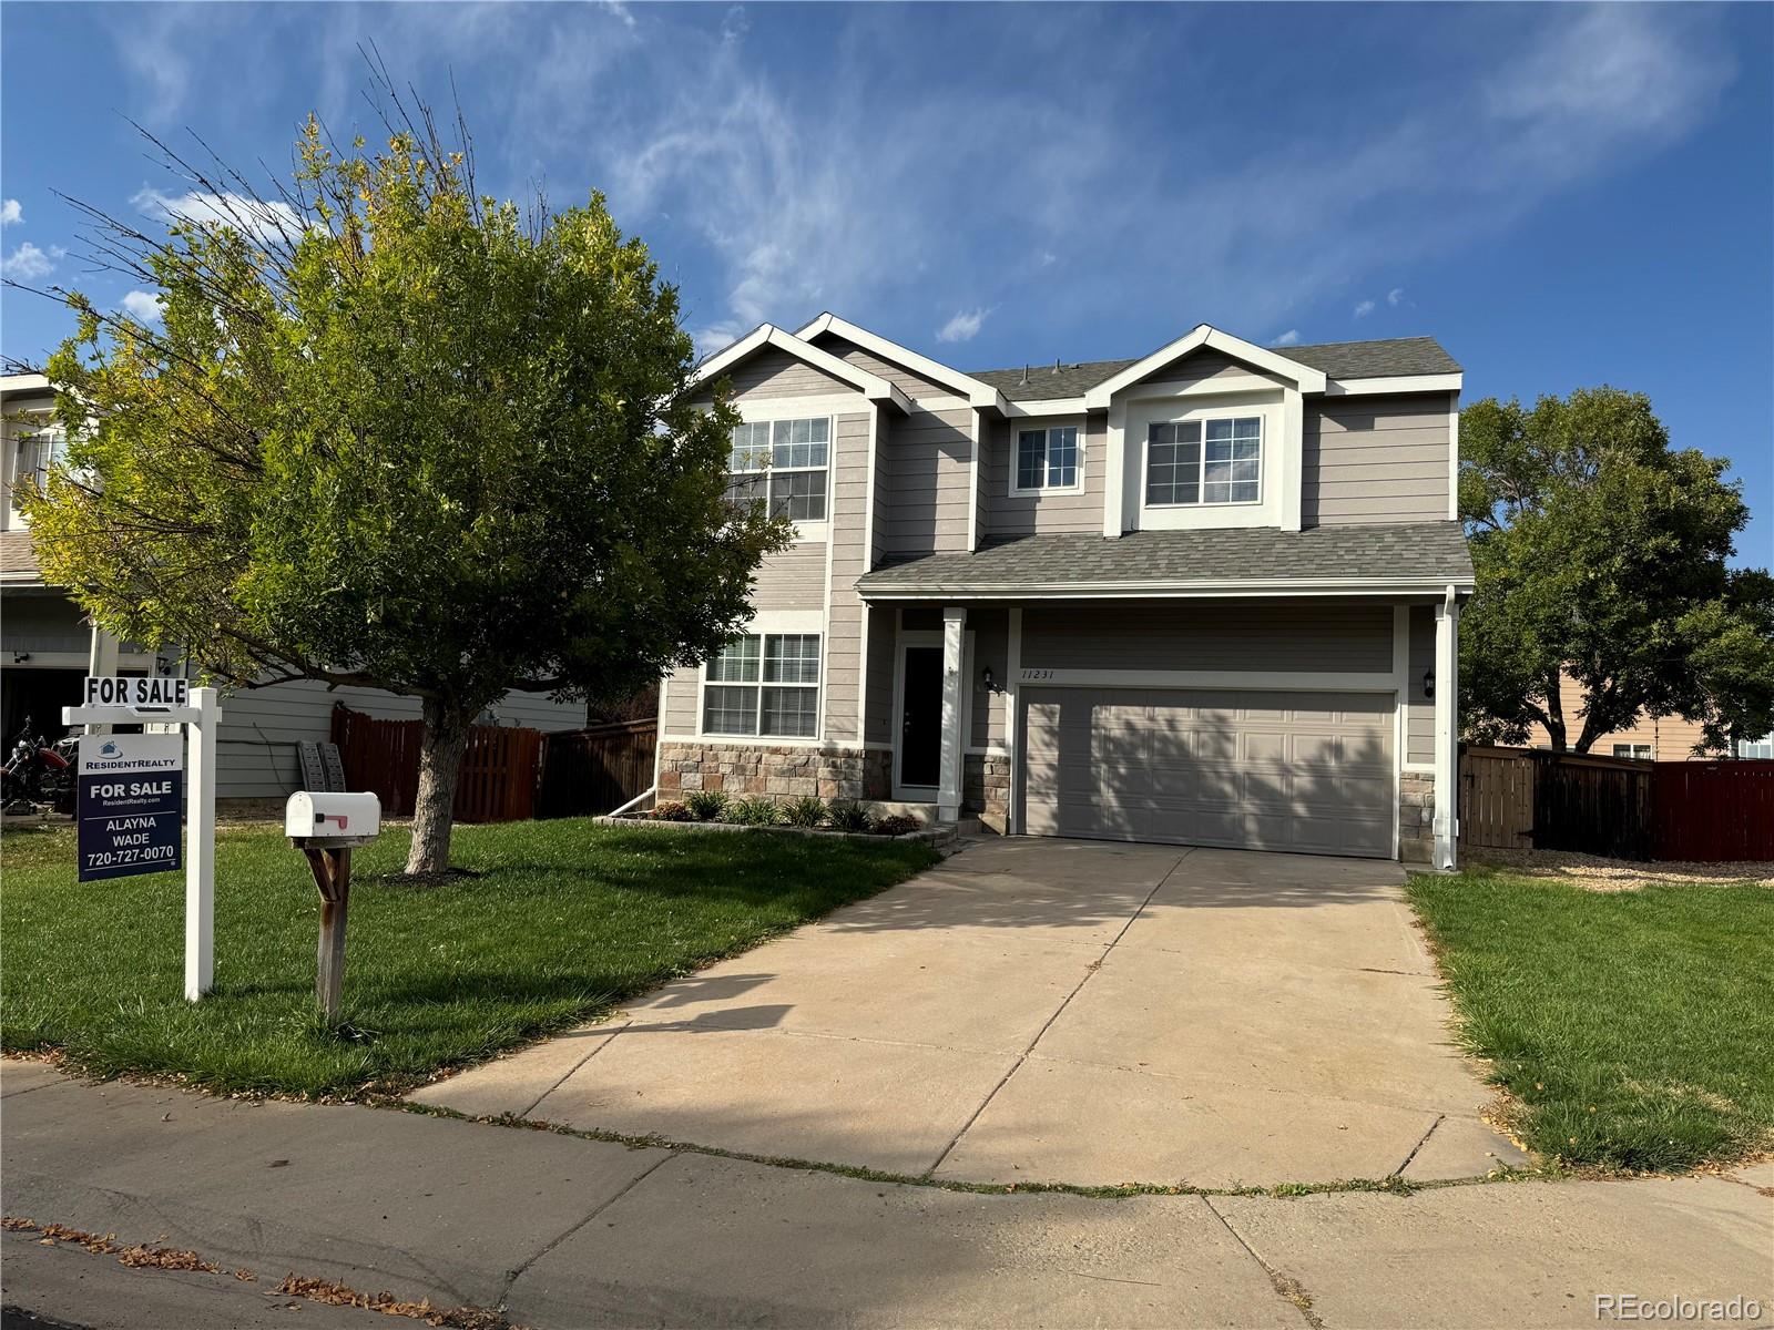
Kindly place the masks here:
<instances>
[{"instance_id":1,"label":"neighboring house at left edge, partly hidden behind the front-yard tree","mask_svg":"<svg viewBox=\"0 0 1774 1330\"><path fill-rule=\"evenodd\" d=\"M11 743L25 716L53 738L62 708L80 700L92 674L176 674L177 653L119 644L90 626L64 587L46 585L30 543L30 525L14 507L14 486L39 481L62 447L50 411L55 392L41 374L0 378L0 738ZM417 720L419 700L371 688L280 683L238 692L222 702L216 736L216 793L224 800L284 798L300 786L296 743L326 739L334 702L387 720ZM511 693L493 708L502 725L562 731L585 724L585 704Z\"/></svg>"}]
</instances>

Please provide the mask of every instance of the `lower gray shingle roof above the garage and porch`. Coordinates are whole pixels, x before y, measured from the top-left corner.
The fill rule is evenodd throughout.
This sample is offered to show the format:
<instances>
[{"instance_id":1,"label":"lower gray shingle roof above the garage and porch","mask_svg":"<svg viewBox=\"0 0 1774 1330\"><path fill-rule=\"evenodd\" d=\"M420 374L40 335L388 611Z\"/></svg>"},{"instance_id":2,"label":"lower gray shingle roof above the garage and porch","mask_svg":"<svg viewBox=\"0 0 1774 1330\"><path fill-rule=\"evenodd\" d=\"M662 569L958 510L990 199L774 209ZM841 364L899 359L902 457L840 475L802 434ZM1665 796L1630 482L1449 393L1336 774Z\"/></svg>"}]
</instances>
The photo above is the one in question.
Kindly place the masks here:
<instances>
[{"instance_id":1,"label":"lower gray shingle roof above the garage and porch","mask_svg":"<svg viewBox=\"0 0 1774 1330\"><path fill-rule=\"evenodd\" d=\"M889 564L857 582L871 594L1087 592L1114 587L1233 587L1313 582L1472 580L1458 521L1401 525L1139 530L1118 541L1091 534L1024 536L976 553L935 553Z\"/></svg>"}]
</instances>

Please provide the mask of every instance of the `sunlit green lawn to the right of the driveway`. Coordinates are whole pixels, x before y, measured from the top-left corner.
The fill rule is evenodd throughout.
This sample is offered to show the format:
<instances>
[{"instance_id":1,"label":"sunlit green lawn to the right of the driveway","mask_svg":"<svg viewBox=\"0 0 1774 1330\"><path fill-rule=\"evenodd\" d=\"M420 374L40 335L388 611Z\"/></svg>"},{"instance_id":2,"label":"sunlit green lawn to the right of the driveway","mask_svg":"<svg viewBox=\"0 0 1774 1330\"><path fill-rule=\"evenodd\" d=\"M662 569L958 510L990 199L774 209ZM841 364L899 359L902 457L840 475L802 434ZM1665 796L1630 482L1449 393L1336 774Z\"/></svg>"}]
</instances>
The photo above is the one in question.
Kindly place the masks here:
<instances>
[{"instance_id":1,"label":"sunlit green lawn to the right of the driveway","mask_svg":"<svg viewBox=\"0 0 1774 1330\"><path fill-rule=\"evenodd\" d=\"M1527 1146L1630 1170L1774 1146L1774 890L1483 869L1409 890Z\"/></svg>"}]
</instances>

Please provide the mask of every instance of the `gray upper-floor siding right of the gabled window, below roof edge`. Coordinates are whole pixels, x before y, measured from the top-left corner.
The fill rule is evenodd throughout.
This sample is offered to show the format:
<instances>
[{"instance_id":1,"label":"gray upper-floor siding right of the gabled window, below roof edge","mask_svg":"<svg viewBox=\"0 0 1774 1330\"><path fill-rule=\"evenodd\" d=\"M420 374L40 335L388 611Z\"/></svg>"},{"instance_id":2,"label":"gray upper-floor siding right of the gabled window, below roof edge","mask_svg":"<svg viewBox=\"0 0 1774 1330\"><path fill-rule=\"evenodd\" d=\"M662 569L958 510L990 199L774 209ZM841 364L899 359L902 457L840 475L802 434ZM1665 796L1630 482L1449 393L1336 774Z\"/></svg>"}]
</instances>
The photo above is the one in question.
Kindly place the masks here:
<instances>
[{"instance_id":1,"label":"gray upper-floor siding right of the gabled window, below roof edge","mask_svg":"<svg viewBox=\"0 0 1774 1330\"><path fill-rule=\"evenodd\" d=\"M1419 394L1307 403L1300 520L1446 520L1449 401Z\"/></svg>"}]
</instances>

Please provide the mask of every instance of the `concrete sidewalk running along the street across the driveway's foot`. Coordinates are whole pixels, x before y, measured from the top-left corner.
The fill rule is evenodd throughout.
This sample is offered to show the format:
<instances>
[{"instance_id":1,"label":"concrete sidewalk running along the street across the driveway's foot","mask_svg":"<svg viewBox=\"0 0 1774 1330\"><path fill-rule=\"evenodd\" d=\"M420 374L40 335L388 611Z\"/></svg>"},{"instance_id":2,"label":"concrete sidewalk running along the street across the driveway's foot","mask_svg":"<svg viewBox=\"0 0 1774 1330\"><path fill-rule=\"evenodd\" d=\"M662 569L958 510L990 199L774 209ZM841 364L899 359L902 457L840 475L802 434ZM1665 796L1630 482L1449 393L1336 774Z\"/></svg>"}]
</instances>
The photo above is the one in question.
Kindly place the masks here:
<instances>
[{"instance_id":1,"label":"concrete sidewalk running along the street across the driveway's foot","mask_svg":"<svg viewBox=\"0 0 1774 1330\"><path fill-rule=\"evenodd\" d=\"M0 1094L11 1217L190 1248L266 1287L325 1277L502 1307L543 1330L1595 1326L1597 1295L1740 1296L1760 1319L1733 1325L1774 1318L1769 1165L1742 1181L1410 1197L974 1195L394 1110L89 1085L27 1062L0 1068ZM66 1259L103 1263L117 1284L114 1257ZM7 1263L7 1305L55 1318L66 1279L44 1270Z\"/></svg>"}]
</instances>

